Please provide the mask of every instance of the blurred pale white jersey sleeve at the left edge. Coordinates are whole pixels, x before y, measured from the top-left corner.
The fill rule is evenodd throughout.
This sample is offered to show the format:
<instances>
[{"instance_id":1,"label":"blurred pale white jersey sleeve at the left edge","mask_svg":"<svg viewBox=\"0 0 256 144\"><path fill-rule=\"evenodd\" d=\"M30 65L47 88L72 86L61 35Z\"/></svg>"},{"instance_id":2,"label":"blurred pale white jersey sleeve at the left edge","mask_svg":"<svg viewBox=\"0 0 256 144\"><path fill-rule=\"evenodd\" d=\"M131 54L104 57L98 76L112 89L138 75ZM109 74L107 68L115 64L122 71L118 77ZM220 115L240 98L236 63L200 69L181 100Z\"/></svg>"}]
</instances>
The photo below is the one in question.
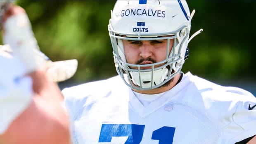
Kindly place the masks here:
<instances>
[{"instance_id":1,"label":"blurred pale white jersey sleeve at the left edge","mask_svg":"<svg viewBox=\"0 0 256 144\"><path fill-rule=\"evenodd\" d=\"M33 90L24 66L15 58L0 56L0 134L30 104Z\"/></svg>"}]
</instances>

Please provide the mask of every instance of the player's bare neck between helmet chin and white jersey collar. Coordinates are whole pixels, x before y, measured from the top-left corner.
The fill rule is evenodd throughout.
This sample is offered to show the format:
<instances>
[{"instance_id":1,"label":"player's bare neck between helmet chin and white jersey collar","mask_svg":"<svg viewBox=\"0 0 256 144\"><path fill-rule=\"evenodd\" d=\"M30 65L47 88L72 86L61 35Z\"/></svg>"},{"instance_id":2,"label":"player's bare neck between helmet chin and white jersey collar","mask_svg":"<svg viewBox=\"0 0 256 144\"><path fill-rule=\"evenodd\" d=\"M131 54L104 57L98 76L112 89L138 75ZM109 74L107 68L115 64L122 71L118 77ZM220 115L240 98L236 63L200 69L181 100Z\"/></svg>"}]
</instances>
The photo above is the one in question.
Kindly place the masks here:
<instances>
[{"instance_id":1,"label":"player's bare neck between helmet chin and white jersey collar","mask_svg":"<svg viewBox=\"0 0 256 144\"><path fill-rule=\"evenodd\" d=\"M178 73L176 76L174 76L173 81L167 86L158 87L153 90L135 90L135 89L133 89L133 91L141 93L141 94L159 94L159 93L171 90L178 83L179 79L180 79L180 73Z\"/></svg>"}]
</instances>

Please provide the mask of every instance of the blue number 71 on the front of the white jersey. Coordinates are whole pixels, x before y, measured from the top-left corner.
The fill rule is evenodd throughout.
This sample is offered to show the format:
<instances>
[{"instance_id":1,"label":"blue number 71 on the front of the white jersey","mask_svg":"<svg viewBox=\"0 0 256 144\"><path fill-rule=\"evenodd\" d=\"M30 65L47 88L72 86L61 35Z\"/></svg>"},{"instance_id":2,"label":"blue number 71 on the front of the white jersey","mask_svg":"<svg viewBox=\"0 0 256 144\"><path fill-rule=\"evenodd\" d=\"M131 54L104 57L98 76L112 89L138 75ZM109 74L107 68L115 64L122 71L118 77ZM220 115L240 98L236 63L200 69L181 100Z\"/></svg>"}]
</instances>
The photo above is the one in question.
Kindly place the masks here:
<instances>
[{"instance_id":1,"label":"blue number 71 on the front of the white jersey","mask_svg":"<svg viewBox=\"0 0 256 144\"><path fill-rule=\"evenodd\" d=\"M111 142L112 137L128 136L125 144L140 144L145 125L102 124L99 142ZM159 144L172 144L175 127L161 127L152 133L152 138Z\"/></svg>"}]
</instances>

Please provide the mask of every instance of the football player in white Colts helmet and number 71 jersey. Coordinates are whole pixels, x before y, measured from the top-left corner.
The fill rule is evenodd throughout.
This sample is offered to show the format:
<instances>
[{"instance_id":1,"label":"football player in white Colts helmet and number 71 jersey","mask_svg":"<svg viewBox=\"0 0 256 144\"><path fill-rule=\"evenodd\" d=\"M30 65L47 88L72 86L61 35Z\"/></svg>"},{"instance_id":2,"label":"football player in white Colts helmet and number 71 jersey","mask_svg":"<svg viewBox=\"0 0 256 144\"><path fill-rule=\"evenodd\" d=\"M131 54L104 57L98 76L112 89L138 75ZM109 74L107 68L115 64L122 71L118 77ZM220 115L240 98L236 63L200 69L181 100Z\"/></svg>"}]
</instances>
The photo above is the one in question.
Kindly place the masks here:
<instances>
[{"instance_id":1,"label":"football player in white Colts helmet and number 71 jersey","mask_svg":"<svg viewBox=\"0 0 256 144\"><path fill-rule=\"evenodd\" d=\"M255 143L256 98L181 72L194 10L185 0L117 0L119 76L66 88L74 144Z\"/></svg>"}]
</instances>

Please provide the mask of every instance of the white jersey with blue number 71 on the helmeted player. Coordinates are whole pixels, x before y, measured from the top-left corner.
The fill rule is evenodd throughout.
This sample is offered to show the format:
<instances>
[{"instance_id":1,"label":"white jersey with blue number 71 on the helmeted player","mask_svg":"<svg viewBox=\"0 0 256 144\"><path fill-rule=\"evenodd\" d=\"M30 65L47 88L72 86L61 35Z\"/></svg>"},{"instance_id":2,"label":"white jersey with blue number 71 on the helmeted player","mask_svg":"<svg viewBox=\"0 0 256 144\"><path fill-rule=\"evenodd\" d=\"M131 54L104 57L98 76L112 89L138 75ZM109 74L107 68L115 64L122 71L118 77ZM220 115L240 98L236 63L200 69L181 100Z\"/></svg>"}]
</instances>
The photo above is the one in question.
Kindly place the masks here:
<instances>
[{"instance_id":1,"label":"white jersey with blue number 71 on the helmeted player","mask_svg":"<svg viewBox=\"0 0 256 144\"><path fill-rule=\"evenodd\" d=\"M256 134L256 98L185 74L144 106L119 76L62 91L74 144L234 144Z\"/></svg>"}]
</instances>

